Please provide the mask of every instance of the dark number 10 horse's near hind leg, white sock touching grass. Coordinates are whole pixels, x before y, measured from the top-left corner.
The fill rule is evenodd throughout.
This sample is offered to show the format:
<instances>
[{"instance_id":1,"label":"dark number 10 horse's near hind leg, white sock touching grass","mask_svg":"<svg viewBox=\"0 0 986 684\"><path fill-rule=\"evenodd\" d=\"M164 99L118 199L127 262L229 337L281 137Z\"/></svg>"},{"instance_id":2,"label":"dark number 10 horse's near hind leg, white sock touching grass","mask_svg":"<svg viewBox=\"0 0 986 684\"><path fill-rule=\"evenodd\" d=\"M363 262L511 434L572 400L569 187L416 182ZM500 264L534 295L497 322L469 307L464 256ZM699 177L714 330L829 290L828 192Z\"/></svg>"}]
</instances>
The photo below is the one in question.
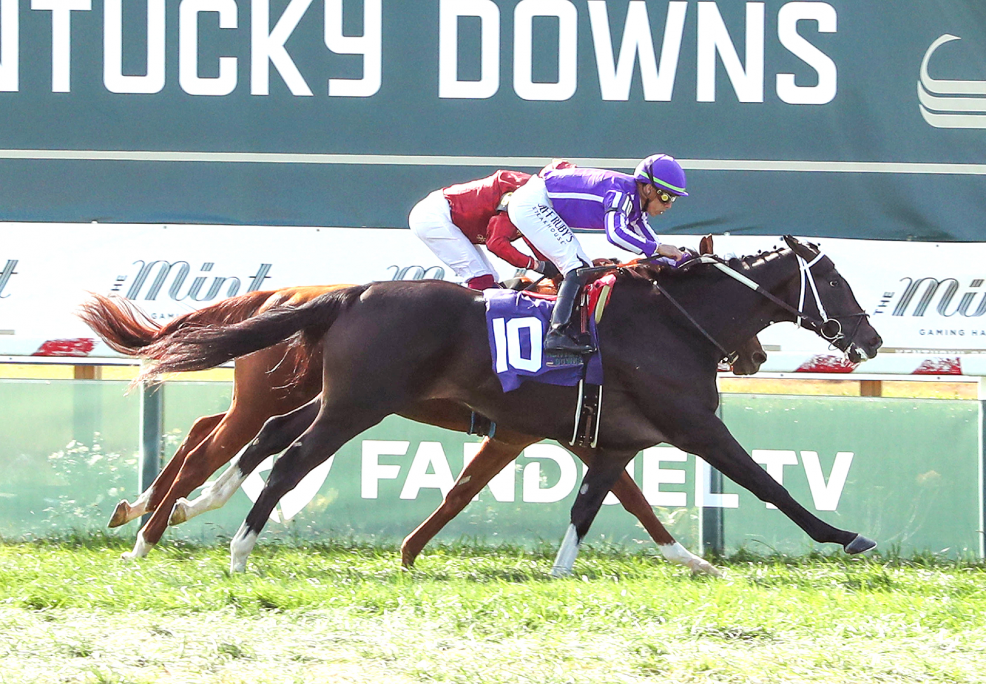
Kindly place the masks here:
<instances>
[{"instance_id":1,"label":"dark number 10 horse's near hind leg, white sock touching grass","mask_svg":"<svg viewBox=\"0 0 986 684\"><path fill-rule=\"evenodd\" d=\"M293 443L284 455L274 464L260 495L246 515L246 520L230 542L230 571L246 570L246 557L249 556L256 539L266 524L270 511L284 494L287 494L319 464L331 458L339 447L363 430L372 427L391 411L367 410L333 406L322 407L315 422L305 434Z\"/></svg>"}]
</instances>

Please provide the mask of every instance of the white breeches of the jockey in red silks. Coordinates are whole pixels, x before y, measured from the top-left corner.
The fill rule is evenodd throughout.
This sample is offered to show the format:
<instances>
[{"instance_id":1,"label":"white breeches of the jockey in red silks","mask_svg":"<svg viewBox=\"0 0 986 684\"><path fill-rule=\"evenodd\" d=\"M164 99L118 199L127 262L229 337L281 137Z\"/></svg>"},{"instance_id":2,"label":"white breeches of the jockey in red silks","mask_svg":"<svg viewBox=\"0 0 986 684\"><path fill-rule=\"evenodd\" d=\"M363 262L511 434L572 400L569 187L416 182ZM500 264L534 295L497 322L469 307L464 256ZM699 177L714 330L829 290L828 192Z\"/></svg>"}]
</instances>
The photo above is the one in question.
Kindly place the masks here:
<instances>
[{"instance_id":1,"label":"white breeches of the jockey in red silks","mask_svg":"<svg viewBox=\"0 0 986 684\"><path fill-rule=\"evenodd\" d=\"M435 190L415 204L407 217L407 224L436 257L456 271L458 277L468 280L480 275L492 275L500 279L486 255L470 243L452 222L449 200L442 190Z\"/></svg>"}]
</instances>

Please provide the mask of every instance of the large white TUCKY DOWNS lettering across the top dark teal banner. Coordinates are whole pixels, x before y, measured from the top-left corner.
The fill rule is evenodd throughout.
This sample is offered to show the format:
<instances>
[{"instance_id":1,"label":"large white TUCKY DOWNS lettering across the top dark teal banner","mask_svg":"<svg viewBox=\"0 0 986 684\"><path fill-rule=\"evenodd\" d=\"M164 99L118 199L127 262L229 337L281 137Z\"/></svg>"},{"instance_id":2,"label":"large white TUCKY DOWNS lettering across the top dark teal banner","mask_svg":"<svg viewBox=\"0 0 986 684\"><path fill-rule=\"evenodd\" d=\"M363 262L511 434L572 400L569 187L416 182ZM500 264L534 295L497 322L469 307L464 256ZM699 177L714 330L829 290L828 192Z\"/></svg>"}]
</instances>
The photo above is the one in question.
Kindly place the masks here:
<instances>
[{"instance_id":1,"label":"large white TUCKY DOWNS lettering across the top dark teal banner","mask_svg":"<svg viewBox=\"0 0 986 684\"><path fill-rule=\"evenodd\" d=\"M193 97L226 97L237 91L266 97L278 92L280 81L293 97L371 98L385 87L387 73L399 72L385 65L400 62L437 72L439 98L487 99L505 81L524 100L564 101L579 87L581 50L595 56L599 97L605 101L629 99L639 63L644 99L669 102L679 62L692 55L696 102L716 101L719 61L740 102L763 103L765 84L776 84L777 97L792 105L824 105L836 95L836 64L819 47L825 41L817 38L819 33L834 34L838 29L836 9L826 2L783 3L776 6L776 15L772 5L769 17L764 2L745 2L740 12L728 8L726 17L720 5L726 9L738 3L521 0L510 7L494 0L439 0L437 12L435 4L394 2L385 6L382 0L129 3L127 12L146 16L145 30L135 20L124 21L122 0L0 0L0 91L49 86L52 93L91 90L99 79L94 75L102 71L100 85L111 94L155 95L166 86L176 86ZM356 22L362 24L361 33L343 33L344 5L347 14L362 15L362 22ZM46 13L49 19L42 19ZM535 25L547 24L544 20L557 28L550 33L536 31ZM803 26L799 30L799 23L816 29ZM385 24L414 29L385 33ZM460 31L460 24L469 30ZM403 38L404 33L414 40ZM240 45L239 54L232 47L217 48L218 34L229 36L229 44ZM657 40L656 35L660 36ZM421 45L430 41L437 41L433 58L437 63L429 63L429 55L421 51ZM47 50L50 82L22 78L21 50L32 58ZM340 70L326 58L326 52L352 55L354 61L345 62L352 67ZM543 52L549 63L558 64L555 80L535 78L535 57ZM124 54L141 66L125 68ZM478 73L460 74L460 55L473 54L478 57ZM102 56L95 69L94 55ZM329 70L326 62L332 64ZM503 78L501 62L512 72ZM813 74L807 80L815 83L796 84L795 74L786 71L790 63L799 63L802 71ZM132 73L134 69L138 73ZM79 84L73 76L75 81L88 80Z\"/></svg>"}]
</instances>

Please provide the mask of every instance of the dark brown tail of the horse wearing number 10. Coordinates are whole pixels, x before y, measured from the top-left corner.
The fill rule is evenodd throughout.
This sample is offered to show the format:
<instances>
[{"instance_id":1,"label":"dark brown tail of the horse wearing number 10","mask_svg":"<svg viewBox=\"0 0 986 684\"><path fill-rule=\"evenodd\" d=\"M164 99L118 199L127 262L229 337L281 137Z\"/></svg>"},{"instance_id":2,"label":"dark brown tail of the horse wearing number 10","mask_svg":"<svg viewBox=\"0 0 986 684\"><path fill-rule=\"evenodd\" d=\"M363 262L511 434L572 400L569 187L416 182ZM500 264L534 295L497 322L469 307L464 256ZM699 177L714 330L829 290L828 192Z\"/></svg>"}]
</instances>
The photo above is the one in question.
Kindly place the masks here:
<instances>
[{"instance_id":1,"label":"dark brown tail of the horse wearing number 10","mask_svg":"<svg viewBox=\"0 0 986 684\"><path fill-rule=\"evenodd\" d=\"M185 325L151 342L140 355L153 359L135 382L163 373L204 370L283 342L302 333L301 343L314 347L343 311L368 285L331 290L301 306L275 306L231 325Z\"/></svg>"}]
</instances>

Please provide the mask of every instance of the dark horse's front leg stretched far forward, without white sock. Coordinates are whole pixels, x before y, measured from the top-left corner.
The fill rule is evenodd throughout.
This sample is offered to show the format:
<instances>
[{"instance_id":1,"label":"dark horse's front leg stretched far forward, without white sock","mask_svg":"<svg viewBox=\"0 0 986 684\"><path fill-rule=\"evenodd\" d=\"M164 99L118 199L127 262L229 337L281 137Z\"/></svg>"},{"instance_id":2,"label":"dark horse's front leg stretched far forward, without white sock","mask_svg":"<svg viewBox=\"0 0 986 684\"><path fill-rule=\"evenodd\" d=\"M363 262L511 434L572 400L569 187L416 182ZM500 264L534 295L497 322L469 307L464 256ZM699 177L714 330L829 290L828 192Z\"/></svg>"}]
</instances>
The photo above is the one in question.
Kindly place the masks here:
<instances>
[{"instance_id":1,"label":"dark horse's front leg stretched far forward, without white sock","mask_svg":"<svg viewBox=\"0 0 986 684\"><path fill-rule=\"evenodd\" d=\"M757 465L715 414L676 419L666 434L674 446L701 457L761 501L773 503L814 541L841 544L848 554L859 554L877 546L872 539L833 527L810 513Z\"/></svg>"}]
</instances>

